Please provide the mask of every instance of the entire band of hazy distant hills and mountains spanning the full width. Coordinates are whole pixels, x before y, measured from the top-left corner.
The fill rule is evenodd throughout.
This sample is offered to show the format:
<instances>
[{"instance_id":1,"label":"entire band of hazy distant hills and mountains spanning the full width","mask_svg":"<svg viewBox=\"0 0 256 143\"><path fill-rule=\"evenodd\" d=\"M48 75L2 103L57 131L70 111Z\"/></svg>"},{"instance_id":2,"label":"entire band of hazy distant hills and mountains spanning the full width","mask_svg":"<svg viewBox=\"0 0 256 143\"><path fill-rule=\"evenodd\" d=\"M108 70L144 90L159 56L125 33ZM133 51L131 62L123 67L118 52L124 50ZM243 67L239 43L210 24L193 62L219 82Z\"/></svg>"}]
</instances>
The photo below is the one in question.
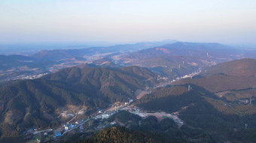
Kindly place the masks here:
<instances>
[{"instance_id":1,"label":"entire band of hazy distant hills and mountains spanning the full width","mask_svg":"<svg viewBox=\"0 0 256 143\"><path fill-rule=\"evenodd\" d=\"M21 60L17 56L27 60ZM8 60L8 57L11 59ZM169 78L175 78L240 58L256 58L256 51L234 49L220 43L175 43L175 40L87 49L43 50L31 56L2 55L0 80L51 73L86 63L104 67L135 65L146 67Z\"/></svg>"}]
</instances>

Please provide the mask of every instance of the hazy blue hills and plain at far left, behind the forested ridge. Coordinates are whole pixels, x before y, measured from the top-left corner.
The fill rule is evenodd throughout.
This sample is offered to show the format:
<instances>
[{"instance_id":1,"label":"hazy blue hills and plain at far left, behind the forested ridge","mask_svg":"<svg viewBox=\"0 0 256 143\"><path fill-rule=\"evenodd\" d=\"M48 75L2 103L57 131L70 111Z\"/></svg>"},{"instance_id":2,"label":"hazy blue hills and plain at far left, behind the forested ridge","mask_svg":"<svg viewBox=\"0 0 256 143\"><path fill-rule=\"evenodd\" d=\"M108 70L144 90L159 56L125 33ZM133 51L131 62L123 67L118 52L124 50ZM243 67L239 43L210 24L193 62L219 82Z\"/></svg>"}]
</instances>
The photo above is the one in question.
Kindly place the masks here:
<instances>
[{"instance_id":1,"label":"hazy blue hills and plain at far left, behind the forested ridge","mask_svg":"<svg viewBox=\"0 0 256 143\"><path fill-rule=\"evenodd\" d=\"M174 42L176 41L163 40L84 49L42 50L30 56L0 55L0 82L34 76L38 73L52 73L66 67L92 63L93 61L100 66L109 67L111 65L110 67L112 67L114 61L111 56ZM108 61L110 59L110 63L106 64L108 61L104 61L104 59L108 59ZM120 67L120 65L115 67Z\"/></svg>"}]
</instances>

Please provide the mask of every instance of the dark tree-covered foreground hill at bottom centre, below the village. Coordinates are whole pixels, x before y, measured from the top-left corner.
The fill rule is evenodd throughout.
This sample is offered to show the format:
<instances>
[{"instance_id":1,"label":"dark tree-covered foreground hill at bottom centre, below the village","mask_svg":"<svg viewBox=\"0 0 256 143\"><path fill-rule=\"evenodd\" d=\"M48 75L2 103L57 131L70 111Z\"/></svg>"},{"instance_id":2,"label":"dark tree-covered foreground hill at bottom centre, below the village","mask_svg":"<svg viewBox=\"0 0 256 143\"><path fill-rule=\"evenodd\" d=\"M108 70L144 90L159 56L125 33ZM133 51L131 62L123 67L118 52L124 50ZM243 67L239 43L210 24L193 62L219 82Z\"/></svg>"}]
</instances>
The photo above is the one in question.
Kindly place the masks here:
<instances>
[{"instance_id":1,"label":"dark tree-covered foreground hill at bottom centre, below the village","mask_svg":"<svg viewBox=\"0 0 256 143\"><path fill-rule=\"evenodd\" d=\"M186 125L178 128L170 118L157 121L154 116L136 116L120 111L107 120L117 121L114 127L106 127L89 138L85 137L86 133L78 133L61 142L216 142L202 129Z\"/></svg>"}]
</instances>

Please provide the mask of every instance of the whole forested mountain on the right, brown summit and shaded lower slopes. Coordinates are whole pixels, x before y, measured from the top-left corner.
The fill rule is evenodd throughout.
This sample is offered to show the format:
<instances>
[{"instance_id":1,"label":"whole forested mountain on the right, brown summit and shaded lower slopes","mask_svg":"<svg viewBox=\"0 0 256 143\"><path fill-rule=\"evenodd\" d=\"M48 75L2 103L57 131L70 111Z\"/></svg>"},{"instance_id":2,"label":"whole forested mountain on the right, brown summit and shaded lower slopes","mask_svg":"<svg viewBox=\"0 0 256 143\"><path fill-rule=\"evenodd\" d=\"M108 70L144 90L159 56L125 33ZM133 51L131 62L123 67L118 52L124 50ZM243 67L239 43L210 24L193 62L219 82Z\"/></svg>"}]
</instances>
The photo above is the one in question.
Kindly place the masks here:
<instances>
[{"instance_id":1,"label":"whole forested mountain on the right, brown summit and shaded lower slopes","mask_svg":"<svg viewBox=\"0 0 256 143\"><path fill-rule=\"evenodd\" d=\"M181 79L137 101L142 109L178 115L217 142L254 142L256 130L254 59L228 61Z\"/></svg>"}]
</instances>

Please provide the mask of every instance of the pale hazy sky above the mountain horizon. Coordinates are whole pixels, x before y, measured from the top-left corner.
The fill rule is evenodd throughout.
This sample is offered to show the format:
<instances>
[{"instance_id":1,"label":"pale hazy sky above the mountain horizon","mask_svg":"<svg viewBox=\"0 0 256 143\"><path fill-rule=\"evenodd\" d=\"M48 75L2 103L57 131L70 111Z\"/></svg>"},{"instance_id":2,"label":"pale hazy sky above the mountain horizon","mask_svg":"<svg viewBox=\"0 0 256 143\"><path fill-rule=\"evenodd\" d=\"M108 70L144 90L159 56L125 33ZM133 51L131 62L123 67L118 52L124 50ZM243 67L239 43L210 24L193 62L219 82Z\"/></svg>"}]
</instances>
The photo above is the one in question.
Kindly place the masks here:
<instances>
[{"instance_id":1,"label":"pale hazy sky above the mountain horizon","mask_svg":"<svg viewBox=\"0 0 256 143\"><path fill-rule=\"evenodd\" d=\"M255 0L0 0L0 43L256 43Z\"/></svg>"}]
</instances>

